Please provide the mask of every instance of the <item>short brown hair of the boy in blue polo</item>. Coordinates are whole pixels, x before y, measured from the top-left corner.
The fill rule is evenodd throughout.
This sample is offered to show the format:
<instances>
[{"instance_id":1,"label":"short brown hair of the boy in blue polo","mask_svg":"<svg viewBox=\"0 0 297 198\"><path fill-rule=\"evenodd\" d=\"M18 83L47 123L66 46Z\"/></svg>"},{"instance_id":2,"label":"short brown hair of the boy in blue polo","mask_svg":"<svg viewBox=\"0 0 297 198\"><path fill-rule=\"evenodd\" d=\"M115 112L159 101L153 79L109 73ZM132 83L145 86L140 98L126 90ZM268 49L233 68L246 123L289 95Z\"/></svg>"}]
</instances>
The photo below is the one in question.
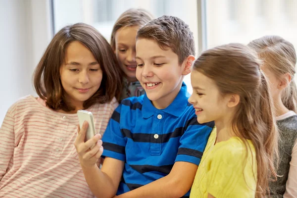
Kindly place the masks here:
<instances>
[{"instance_id":1,"label":"short brown hair of the boy in blue polo","mask_svg":"<svg viewBox=\"0 0 297 198\"><path fill-rule=\"evenodd\" d=\"M157 42L161 49L172 49L181 64L189 55L195 55L193 32L183 20L175 16L161 16L142 26L136 39Z\"/></svg>"}]
</instances>

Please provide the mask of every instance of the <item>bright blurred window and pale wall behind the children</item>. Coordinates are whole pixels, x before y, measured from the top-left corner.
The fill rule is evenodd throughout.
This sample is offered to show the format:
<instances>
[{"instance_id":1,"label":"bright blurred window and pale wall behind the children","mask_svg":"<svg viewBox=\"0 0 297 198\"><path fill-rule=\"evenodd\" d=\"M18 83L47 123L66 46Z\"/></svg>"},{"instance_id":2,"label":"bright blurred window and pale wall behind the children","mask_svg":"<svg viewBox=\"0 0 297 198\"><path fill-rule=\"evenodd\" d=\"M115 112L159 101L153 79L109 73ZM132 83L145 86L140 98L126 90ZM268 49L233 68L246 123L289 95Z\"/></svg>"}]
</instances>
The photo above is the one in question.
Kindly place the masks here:
<instances>
[{"instance_id":1,"label":"bright blurred window and pale wall behind the children","mask_svg":"<svg viewBox=\"0 0 297 198\"><path fill-rule=\"evenodd\" d=\"M0 0L0 123L17 99L36 96L32 74L56 32L84 22L110 41L115 20L132 7L183 19L195 35L197 57L264 35L280 35L297 47L297 0ZM190 75L184 81L191 93Z\"/></svg>"}]
</instances>

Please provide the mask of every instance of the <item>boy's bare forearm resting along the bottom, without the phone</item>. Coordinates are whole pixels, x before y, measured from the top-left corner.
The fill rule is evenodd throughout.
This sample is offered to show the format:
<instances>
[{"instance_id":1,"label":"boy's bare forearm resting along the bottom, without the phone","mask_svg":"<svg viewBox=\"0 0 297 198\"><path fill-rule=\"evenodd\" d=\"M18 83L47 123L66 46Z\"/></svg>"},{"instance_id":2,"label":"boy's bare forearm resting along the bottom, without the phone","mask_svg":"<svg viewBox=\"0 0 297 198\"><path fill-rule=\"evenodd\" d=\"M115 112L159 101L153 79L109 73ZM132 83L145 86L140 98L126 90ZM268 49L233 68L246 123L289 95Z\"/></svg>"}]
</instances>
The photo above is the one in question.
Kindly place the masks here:
<instances>
[{"instance_id":1,"label":"boy's bare forearm resting along the bottom, without the phone","mask_svg":"<svg viewBox=\"0 0 297 198\"><path fill-rule=\"evenodd\" d=\"M198 166L178 161L170 173L138 189L117 196L117 198L180 198L190 189Z\"/></svg>"}]
</instances>

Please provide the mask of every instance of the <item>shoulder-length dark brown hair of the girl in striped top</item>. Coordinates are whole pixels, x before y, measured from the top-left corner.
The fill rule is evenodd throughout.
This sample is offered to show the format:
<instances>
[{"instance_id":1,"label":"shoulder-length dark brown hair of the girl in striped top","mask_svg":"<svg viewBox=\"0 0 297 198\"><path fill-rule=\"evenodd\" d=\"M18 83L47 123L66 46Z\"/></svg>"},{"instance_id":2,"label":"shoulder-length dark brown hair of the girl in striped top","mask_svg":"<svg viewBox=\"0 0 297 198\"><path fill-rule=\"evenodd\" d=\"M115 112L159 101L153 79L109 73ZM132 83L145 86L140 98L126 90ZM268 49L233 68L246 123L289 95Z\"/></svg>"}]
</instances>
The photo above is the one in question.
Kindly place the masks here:
<instances>
[{"instance_id":1,"label":"shoulder-length dark brown hair of the girl in striped top","mask_svg":"<svg viewBox=\"0 0 297 198\"><path fill-rule=\"evenodd\" d=\"M65 100L59 72L65 62L65 48L73 41L82 43L92 51L103 73L98 91L84 102L84 108L94 103L109 102L113 97L119 100L122 82L116 57L104 37L94 27L84 23L62 28L49 43L33 76L34 87L39 97L45 99L51 109L74 109Z\"/></svg>"}]
</instances>

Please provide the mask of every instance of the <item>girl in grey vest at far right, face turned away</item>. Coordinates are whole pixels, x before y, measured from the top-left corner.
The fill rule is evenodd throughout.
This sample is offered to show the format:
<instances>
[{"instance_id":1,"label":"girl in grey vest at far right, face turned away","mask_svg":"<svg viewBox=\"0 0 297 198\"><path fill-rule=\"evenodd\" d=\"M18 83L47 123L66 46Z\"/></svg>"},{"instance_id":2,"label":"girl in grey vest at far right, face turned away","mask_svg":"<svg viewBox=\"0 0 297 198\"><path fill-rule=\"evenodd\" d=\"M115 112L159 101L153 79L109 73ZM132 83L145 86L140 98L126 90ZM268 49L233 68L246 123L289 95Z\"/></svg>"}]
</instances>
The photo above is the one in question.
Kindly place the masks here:
<instances>
[{"instance_id":1,"label":"girl in grey vest at far right, face turned away","mask_svg":"<svg viewBox=\"0 0 297 198\"><path fill-rule=\"evenodd\" d=\"M294 81L296 51L280 36L264 36L248 47L255 49L273 98L274 116L280 133L276 182L271 182L272 198L297 198L297 87Z\"/></svg>"}]
</instances>

